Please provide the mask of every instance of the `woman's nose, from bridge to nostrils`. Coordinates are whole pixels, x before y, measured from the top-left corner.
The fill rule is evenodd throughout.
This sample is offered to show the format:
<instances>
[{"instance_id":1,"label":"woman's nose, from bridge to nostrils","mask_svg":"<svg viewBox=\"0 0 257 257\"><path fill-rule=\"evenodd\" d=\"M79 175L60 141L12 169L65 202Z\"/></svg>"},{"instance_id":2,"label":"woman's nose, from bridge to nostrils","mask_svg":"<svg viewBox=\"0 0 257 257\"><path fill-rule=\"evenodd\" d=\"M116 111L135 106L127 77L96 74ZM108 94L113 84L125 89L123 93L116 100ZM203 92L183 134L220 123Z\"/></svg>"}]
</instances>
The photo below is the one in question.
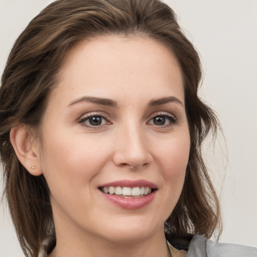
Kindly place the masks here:
<instances>
[{"instance_id":1,"label":"woman's nose, from bridge to nostrils","mask_svg":"<svg viewBox=\"0 0 257 257\"><path fill-rule=\"evenodd\" d=\"M146 132L140 126L121 127L114 146L113 162L116 166L139 169L153 160Z\"/></svg>"}]
</instances>

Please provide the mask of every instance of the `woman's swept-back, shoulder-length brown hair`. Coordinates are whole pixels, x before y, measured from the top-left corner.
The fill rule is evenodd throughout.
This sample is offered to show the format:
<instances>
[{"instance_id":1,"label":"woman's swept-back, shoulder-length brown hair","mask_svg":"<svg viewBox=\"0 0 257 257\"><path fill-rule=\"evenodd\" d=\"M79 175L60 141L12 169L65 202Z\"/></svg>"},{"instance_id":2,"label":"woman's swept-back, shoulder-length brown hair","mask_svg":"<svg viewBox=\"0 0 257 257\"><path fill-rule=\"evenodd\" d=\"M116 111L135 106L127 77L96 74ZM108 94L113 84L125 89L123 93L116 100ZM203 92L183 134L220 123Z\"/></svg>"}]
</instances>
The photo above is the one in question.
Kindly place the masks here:
<instances>
[{"instance_id":1,"label":"woman's swept-back, shoulder-length brown hair","mask_svg":"<svg viewBox=\"0 0 257 257\"><path fill-rule=\"evenodd\" d=\"M19 162L10 131L19 123L39 127L65 53L81 40L104 34L149 37L176 56L184 79L191 148L182 194L166 231L176 237L198 233L208 238L221 232L219 202L201 155L202 143L210 132L215 135L218 121L197 96L199 56L172 9L158 0L60 0L35 17L17 39L0 89L5 194L26 256L37 256L41 241L54 233L54 224L45 178L30 175Z\"/></svg>"}]
</instances>

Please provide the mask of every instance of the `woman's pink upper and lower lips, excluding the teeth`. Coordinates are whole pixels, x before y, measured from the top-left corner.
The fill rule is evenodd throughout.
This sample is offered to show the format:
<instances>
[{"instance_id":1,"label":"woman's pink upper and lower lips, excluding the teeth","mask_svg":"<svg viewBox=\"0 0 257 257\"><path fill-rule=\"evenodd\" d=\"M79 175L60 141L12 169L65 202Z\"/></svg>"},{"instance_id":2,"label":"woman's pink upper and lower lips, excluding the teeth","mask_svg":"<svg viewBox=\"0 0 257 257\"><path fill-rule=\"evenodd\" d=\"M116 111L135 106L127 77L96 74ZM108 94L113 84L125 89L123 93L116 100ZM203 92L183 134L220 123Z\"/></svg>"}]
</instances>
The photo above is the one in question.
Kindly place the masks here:
<instances>
[{"instance_id":1,"label":"woman's pink upper and lower lips, excluding the teeth","mask_svg":"<svg viewBox=\"0 0 257 257\"><path fill-rule=\"evenodd\" d=\"M106 183L103 185L100 185L99 187L150 187L152 189L156 189L157 185L149 182L147 180L136 180L136 181L132 181L132 180L120 180L120 181L114 181L114 182L110 182L110 183ZM149 195L145 195L139 198L124 198L118 195L110 195L110 194L105 194L104 192L102 192L101 190L99 190L99 192L103 195L103 197L105 197L105 199L107 199L108 201L110 201L111 203L115 204L116 206L123 208L123 209L130 209L130 210L136 210L136 209L140 209L145 207L146 205L150 204L155 195L156 195L156 191L154 190L151 194Z\"/></svg>"}]
</instances>

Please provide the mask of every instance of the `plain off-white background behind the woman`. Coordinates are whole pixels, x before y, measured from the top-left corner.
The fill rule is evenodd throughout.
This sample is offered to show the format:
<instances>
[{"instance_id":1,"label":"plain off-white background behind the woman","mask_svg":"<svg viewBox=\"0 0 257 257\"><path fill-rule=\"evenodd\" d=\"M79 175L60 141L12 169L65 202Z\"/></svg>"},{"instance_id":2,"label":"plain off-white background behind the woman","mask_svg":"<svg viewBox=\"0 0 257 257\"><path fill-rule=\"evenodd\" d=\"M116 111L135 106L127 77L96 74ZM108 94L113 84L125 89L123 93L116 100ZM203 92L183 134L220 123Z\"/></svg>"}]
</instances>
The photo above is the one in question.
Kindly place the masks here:
<instances>
[{"instance_id":1,"label":"plain off-white background behind the woman","mask_svg":"<svg viewBox=\"0 0 257 257\"><path fill-rule=\"evenodd\" d=\"M0 74L11 47L51 0L0 0ZM216 110L224 139L206 147L222 203L221 242L257 246L257 1L166 0L199 51L203 98ZM226 145L226 147L225 147ZM0 176L1 177L1 176ZM0 181L2 189L2 181ZM0 206L0 257L23 256L7 208Z\"/></svg>"}]
</instances>

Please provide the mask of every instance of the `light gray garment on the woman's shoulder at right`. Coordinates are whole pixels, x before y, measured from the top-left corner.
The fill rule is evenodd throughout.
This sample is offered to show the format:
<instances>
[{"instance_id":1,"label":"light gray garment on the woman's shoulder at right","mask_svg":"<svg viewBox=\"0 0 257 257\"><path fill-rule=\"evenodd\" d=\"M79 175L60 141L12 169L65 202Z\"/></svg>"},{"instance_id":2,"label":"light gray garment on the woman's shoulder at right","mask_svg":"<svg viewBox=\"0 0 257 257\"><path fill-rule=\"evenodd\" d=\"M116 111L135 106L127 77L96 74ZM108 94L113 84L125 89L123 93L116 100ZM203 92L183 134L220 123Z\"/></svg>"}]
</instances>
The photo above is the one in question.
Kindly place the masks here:
<instances>
[{"instance_id":1,"label":"light gray garment on the woman's shoulder at right","mask_svg":"<svg viewBox=\"0 0 257 257\"><path fill-rule=\"evenodd\" d=\"M256 257L257 248L232 244L216 243L201 235L194 235L190 241L186 257Z\"/></svg>"}]
</instances>

